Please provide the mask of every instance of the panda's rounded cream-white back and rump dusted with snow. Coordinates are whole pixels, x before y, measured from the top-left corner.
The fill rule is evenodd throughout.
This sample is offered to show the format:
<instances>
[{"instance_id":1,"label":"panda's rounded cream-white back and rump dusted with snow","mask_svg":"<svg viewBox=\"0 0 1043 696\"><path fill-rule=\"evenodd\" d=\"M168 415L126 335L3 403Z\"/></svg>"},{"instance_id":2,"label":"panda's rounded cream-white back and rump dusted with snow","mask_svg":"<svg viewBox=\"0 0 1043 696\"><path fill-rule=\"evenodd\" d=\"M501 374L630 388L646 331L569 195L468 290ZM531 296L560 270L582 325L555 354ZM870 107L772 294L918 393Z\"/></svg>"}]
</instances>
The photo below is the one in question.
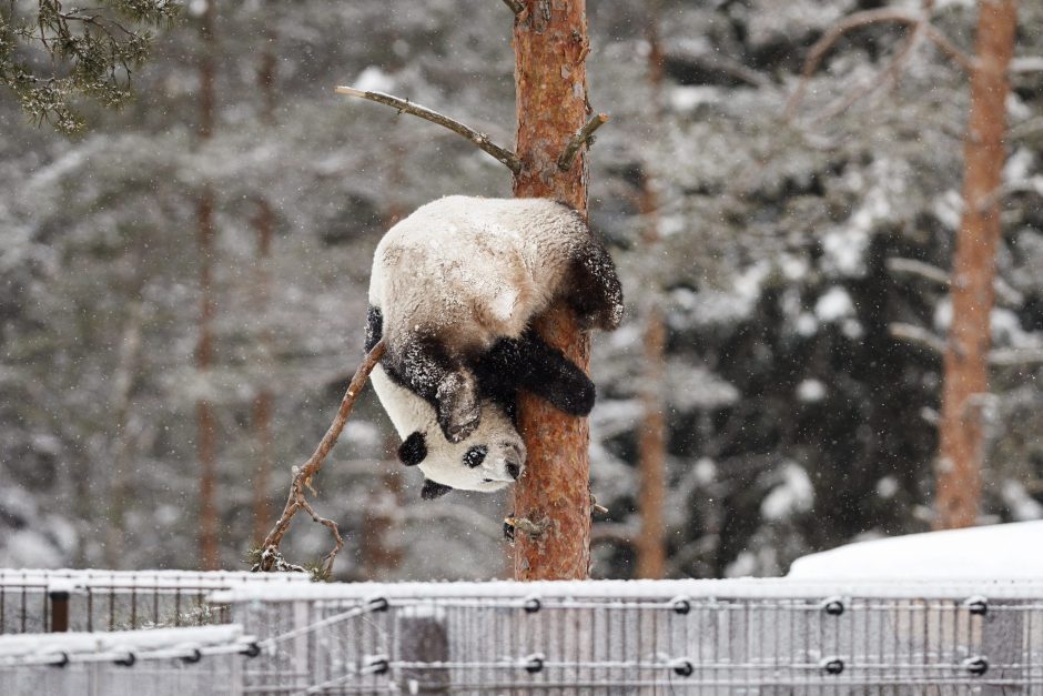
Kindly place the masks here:
<instances>
[{"instance_id":1,"label":"panda's rounded cream-white back and rump dusted with snow","mask_svg":"<svg viewBox=\"0 0 1043 696\"><path fill-rule=\"evenodd\" d=\"M545 199L439 199L381 240L369 303L391 345L424 332L450 350L485 350L548 306L587 234L575 212Z\"/></svg>"}]
</instances>

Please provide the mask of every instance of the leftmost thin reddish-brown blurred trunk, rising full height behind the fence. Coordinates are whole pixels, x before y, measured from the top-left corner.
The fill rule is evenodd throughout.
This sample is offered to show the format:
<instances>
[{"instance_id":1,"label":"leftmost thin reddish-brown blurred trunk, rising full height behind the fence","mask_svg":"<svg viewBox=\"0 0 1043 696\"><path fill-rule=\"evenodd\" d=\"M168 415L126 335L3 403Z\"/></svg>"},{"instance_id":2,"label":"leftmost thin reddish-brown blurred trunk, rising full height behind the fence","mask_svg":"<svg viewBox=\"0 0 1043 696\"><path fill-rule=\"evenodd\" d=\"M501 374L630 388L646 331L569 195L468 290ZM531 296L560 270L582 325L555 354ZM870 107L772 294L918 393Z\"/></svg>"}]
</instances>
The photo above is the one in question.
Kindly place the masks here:
<instances>
[{"instance_id":1,"label":"leftmost thin reddish-brown blurred trunk, rising full height behind the fence","mask_svg":"<svg viewBox=\"0 0 1043 696\"><path fill-rule=\"evenodd\" d=\"M213 135L214 123L214 2L206 3L203 11L200 33L202 54L200 57L200 124L199 140L204 145ZM195 365L202 375L207 375L213 364L213 336L211 324L214 317L212 288L213 238L214 238L214 193L209 182L203 183L196 205L199 223L199 264L200 264L200 315L199 343L195 349ZM200 556L204 571L217 568L217 512L214 502L215 488L215 424L213 406L206 399L195 404L195 417L199 427L196 443L200 460Z\"/></svg>"}]
</instances>

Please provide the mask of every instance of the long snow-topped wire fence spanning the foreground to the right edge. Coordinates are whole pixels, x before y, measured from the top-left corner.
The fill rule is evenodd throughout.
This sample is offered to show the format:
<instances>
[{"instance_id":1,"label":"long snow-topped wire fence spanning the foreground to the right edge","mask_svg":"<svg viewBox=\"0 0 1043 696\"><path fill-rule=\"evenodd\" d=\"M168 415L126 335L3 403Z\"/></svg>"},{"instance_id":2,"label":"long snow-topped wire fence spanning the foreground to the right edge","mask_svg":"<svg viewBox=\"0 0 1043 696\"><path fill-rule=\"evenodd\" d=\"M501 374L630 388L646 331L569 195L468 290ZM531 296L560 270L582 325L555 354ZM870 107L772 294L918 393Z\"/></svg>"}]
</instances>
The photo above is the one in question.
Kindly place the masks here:
<instances>
[{"instance_id":1,"label":"long snow-topped wire fence spanning the foreground to the right edge","mask_svg":"<svg viewBox=\"0 0 1043 696\"><path fill-rule=\"evenodd\" d=\"M247 694L1043 694L1043 583L242 587Z\"/></svg>"}]
</instances>

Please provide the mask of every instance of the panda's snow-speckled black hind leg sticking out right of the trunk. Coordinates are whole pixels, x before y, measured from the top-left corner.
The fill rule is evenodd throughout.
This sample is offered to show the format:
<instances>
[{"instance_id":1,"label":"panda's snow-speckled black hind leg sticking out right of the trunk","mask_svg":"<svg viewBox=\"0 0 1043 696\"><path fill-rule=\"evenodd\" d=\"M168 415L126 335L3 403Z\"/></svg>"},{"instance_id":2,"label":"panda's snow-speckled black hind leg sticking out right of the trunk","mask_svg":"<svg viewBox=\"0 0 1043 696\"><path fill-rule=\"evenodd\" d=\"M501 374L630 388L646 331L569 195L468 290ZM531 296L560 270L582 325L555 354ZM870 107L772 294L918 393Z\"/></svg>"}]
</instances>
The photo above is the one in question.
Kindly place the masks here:
<instances>
[{"instance_id":1,"label":"panda's snow-speckled black hind leg sticking out right of the trunk","mask_svg":"<svg viewBox=\"0 0 1043 696\"><path fill-rule=\"evenodd\" d=\"M622 285L616 264L591 235L573 256L565 299L585 329L612 331L622 321Z\"/></svg>"}]
</instances>

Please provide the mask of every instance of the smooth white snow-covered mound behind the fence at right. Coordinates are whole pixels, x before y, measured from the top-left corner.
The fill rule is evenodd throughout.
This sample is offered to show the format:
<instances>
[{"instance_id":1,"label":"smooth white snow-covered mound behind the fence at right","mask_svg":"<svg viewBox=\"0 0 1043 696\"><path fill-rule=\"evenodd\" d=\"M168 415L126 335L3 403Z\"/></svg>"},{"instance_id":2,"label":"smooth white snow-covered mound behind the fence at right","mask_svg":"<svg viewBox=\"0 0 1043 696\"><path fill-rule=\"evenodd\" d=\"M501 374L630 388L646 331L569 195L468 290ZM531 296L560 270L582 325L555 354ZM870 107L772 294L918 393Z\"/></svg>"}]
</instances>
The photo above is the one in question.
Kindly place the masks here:
<instances>
[{"instance_id":1,"label":"smooth white snow-covered mound behind the fence at right","mask_svg":"<svg viewBox=\"0 0 1043 696\"><path fill-rule=\"evenodd\" d=\"M793 581L1043 581L1043 522L848 544L793 562Z\"/></svg>"}]
</instances>

